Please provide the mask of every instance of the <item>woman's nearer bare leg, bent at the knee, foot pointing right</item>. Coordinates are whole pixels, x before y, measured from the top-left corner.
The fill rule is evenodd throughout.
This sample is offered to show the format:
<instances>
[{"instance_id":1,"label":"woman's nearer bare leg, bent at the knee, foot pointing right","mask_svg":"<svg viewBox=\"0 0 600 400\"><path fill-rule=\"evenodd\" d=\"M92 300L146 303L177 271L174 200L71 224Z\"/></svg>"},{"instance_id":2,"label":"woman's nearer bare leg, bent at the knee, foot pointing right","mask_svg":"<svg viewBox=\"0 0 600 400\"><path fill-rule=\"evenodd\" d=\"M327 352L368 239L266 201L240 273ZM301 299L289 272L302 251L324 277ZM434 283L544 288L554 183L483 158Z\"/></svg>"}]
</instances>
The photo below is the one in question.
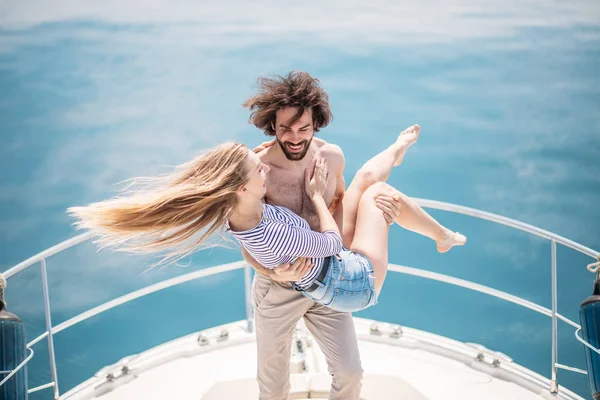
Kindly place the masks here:
<instances>
[{"instance_id":1,"label":"woman's nearer bare leg, bent at the knee, foot pointing right","mask_svg":"<svg viewBox=\"0 0 600 400\"><path fill-rule=\"evenodd\" d=\"M383 213L377 207L378 196L396 196L401 204L396 223L405 229L417 232L433 239L438 251L444 253L453 246L465 244L467 239L452 232L427 214L414 200L394 189L387 183L378 182L370 186L358 206L356 231L350 250L366 256L375 272L375 289L381 290L388 267L389 226Z\"/></svg>"}]
</instances>

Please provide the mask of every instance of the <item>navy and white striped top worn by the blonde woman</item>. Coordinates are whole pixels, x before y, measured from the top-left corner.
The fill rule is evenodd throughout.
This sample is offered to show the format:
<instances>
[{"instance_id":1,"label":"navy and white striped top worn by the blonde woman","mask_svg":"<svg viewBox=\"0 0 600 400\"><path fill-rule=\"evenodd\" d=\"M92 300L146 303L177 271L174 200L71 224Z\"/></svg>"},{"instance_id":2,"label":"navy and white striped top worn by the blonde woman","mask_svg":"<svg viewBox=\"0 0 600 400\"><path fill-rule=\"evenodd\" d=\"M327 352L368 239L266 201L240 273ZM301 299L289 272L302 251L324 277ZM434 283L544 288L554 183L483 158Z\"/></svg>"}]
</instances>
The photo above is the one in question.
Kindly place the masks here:
<instances>
[{"instance_id":1,"label":"navy and white striped top worn by the blonde woman","mask_svg":"<svg viewBox=\"0 0 600 400\"><path fill-rule=\"evenodd\" d=\"M274 269L293 263L298 257L311 257L315 266L299 281L301 289L308 288L319 273L323 259L342 251L342 238L335 231L315 232L305 219L285 207L265 204L261 221L247 231L229 233L262 266Z\"/></svg>"}]
</instances>

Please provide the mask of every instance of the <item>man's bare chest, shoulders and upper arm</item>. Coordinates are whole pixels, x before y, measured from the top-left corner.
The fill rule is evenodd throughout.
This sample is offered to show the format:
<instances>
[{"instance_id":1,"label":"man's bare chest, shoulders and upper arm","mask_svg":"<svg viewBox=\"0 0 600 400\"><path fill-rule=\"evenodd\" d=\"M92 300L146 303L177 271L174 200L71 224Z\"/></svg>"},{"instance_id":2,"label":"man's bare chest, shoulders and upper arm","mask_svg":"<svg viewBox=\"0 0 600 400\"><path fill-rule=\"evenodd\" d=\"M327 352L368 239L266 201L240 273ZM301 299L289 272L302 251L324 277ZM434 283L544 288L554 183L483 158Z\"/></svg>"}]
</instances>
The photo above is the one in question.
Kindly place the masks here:
<instances>
[{"instance_id":1,"label":"man's bare chest, shoulders and upper arm","mask_svg":"<svg viewBox=\"0 0 600 400\"><path fill-rule=\"evenodd\" d=\"M290 161L281 151L277 151L279 149L276 149L276 146L279 145L275 143L258 154L261 161L271 168L265 201L267 204L289 208L308 221L313 230L318 230L319 218L304 189L304 171L309 169L312 174L314 157L317 155L327 160L329 178L323 197L329 207L334 198L341 196L340 188L336 193L336 183L344 169L343 153L338 146L313 138L306 156L299 161ZM343 188L341 190L343 193Z\"/></svg>"}]
</instances>

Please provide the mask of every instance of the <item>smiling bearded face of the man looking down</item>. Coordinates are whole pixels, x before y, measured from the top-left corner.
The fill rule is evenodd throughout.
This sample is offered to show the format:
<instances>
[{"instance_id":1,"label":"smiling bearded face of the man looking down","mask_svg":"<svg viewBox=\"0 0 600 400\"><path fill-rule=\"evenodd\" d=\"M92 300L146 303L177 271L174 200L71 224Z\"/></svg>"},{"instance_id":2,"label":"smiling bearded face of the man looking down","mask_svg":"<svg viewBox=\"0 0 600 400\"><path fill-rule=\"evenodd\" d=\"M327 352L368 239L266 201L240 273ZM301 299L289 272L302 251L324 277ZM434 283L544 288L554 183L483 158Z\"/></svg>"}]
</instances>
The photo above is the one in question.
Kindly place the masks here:
<instances>
[{"instance_id":1,"label":"smiling bearded face of the man looking down","mask_svg":"<svg viewBox=\"0 0 600 400\"><path fill-rule=\"evenodd\" d=\"M282 108L277 111L275 117L277 143L287 159L292 161L304 158L315 134L310 110L305 111L293 125L288 122L296 115L296 112L297 108L294 107Z\"/></svg>"}]
</instances>

